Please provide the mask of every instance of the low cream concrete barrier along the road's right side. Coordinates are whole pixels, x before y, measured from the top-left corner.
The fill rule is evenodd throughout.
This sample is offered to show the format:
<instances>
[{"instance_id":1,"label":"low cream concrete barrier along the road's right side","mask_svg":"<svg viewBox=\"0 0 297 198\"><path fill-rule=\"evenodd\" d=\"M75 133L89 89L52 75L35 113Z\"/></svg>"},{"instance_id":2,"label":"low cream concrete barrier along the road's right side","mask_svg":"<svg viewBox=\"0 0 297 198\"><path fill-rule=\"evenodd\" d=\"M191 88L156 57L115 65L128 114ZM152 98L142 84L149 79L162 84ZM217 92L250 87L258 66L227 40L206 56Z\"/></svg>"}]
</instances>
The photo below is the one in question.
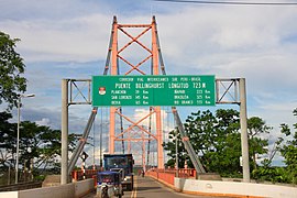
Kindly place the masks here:
<instances>
[{"instance_id":1,"label":"low cream concrete barrier along the road's right side","mask_svg":"<svg viewBox=\"0 0 297 198\"><path fill-rule=\"evenodd\" d=\"M296 198L297 188L277 185L196 180L175 177L175 188L179 191L230 197L274 197L274 198Z\"/></svg>"}]
</instances>

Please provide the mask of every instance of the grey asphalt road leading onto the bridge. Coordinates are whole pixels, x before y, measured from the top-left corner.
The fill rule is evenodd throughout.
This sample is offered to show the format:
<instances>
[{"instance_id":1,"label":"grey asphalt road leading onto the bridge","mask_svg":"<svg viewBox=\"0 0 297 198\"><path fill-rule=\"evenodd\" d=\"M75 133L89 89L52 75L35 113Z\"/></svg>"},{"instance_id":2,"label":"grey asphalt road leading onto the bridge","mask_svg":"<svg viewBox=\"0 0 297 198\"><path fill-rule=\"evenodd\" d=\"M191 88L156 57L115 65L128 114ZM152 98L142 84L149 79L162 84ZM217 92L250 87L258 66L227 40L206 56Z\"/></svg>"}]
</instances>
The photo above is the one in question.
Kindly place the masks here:
<instances>
[{"instance_id":1,"label":"grey asphalt road leading onto the bridge","mask_svg":"<svg viewBox=\"0 0 297 198\"><path fill-rule=\"evenodd\" d=\"M96 195L91 194L84 198L95 198ZM123 198L183 198L183 197L196 197L196 198L211 198L210 196L197 196L177 193L167 186L154 180L151 177L139 177L134 178L134 190L124 191ZM218 198L218 197L216 197Z\"/></svg>"}]
</instances>

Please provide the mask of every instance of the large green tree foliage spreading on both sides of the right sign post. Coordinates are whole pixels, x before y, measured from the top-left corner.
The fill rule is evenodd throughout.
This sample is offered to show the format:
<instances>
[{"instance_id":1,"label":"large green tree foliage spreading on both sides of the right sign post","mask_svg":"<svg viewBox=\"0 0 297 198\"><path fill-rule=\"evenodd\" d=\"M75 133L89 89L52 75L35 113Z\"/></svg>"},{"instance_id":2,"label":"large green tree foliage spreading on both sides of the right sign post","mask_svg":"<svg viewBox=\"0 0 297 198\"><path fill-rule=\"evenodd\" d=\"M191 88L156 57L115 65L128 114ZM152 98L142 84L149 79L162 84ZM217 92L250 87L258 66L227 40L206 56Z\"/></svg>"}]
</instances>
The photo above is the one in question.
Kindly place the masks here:
<instances>
[{"instance_id":1,"label":"large green tree foliage spreading on both sides of the right sign post","mask_svg":"<svg viewBox=\"0 0 297 198\"><path fill-rule=\"evenodd\" d=\"M185 131L189 138L195 152L200 156L207 172L216 172L222 176L240 176L241 135L239 112L232 109L219 109L213 114L211 111L198 111L191 113L184 123ZM267 140L257 135L268 132L270 128L261 118L253 117L248 120L250 157L266 152ZM169 142L164 144L170 157L167 166L175 164L175 136L176 132L169 133ZM185 161L193 167L191 162L184 148L180 136L178 139L179 167L184 167Z\"/></svg>"}]
</instances>

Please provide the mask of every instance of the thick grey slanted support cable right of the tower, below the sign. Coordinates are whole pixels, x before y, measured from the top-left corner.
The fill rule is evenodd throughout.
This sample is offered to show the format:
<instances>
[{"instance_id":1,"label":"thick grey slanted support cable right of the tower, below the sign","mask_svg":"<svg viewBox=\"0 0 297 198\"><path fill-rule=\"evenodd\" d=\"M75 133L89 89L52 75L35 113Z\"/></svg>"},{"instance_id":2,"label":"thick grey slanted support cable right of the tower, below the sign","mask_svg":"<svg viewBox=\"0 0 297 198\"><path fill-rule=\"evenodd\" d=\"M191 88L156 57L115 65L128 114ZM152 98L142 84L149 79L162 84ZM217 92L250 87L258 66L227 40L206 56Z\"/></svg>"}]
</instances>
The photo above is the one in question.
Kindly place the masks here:
<instances>
[{"instance_id":1,"label":"thick grey slanted support cable right of the tower, below the sign","mask_svg":"<svg viewBox=\"0 0 297 198\"><path fill-rule=\"evenodd\" d=\"M191 163L193 163L196 172L197 173L206 173L201 162L198 158L198 154L195 153L195 150L193 148L191 143L189 142L189 138L187 136L187 134L185 132L184 124L183 124L183 122L182 122L182 120L179 118L179 114L178 114L176 108L172 107L172 111L173 111L175 122L176 122L176 125L178 128L180 138L183 140L183 143L185 145L185 148L188 152L188 155L189 155L189 157L191 160Z\"/></svg>"}]
</instances>

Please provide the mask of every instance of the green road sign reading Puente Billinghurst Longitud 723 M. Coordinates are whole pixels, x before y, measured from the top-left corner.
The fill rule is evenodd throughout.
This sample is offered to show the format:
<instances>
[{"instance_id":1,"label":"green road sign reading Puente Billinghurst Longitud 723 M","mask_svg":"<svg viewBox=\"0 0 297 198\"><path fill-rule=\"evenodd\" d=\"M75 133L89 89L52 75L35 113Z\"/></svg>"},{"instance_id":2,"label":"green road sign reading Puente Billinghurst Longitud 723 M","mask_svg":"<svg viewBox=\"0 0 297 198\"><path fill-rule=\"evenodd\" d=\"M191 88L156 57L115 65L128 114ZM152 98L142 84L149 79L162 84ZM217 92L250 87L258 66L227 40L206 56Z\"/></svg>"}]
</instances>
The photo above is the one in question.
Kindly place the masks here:
<instances>
[{"instance_id":1,"label":"green road sign reading Puente Billinghurst Longitud 723 M","mask_svg":"<svg viewBox=\"0 0 297 198\"><path fill-rule=\"evenodd\" d=\"M92 106L215 106L215 76L94 76Z\"/></svg>"}]
</instances>

